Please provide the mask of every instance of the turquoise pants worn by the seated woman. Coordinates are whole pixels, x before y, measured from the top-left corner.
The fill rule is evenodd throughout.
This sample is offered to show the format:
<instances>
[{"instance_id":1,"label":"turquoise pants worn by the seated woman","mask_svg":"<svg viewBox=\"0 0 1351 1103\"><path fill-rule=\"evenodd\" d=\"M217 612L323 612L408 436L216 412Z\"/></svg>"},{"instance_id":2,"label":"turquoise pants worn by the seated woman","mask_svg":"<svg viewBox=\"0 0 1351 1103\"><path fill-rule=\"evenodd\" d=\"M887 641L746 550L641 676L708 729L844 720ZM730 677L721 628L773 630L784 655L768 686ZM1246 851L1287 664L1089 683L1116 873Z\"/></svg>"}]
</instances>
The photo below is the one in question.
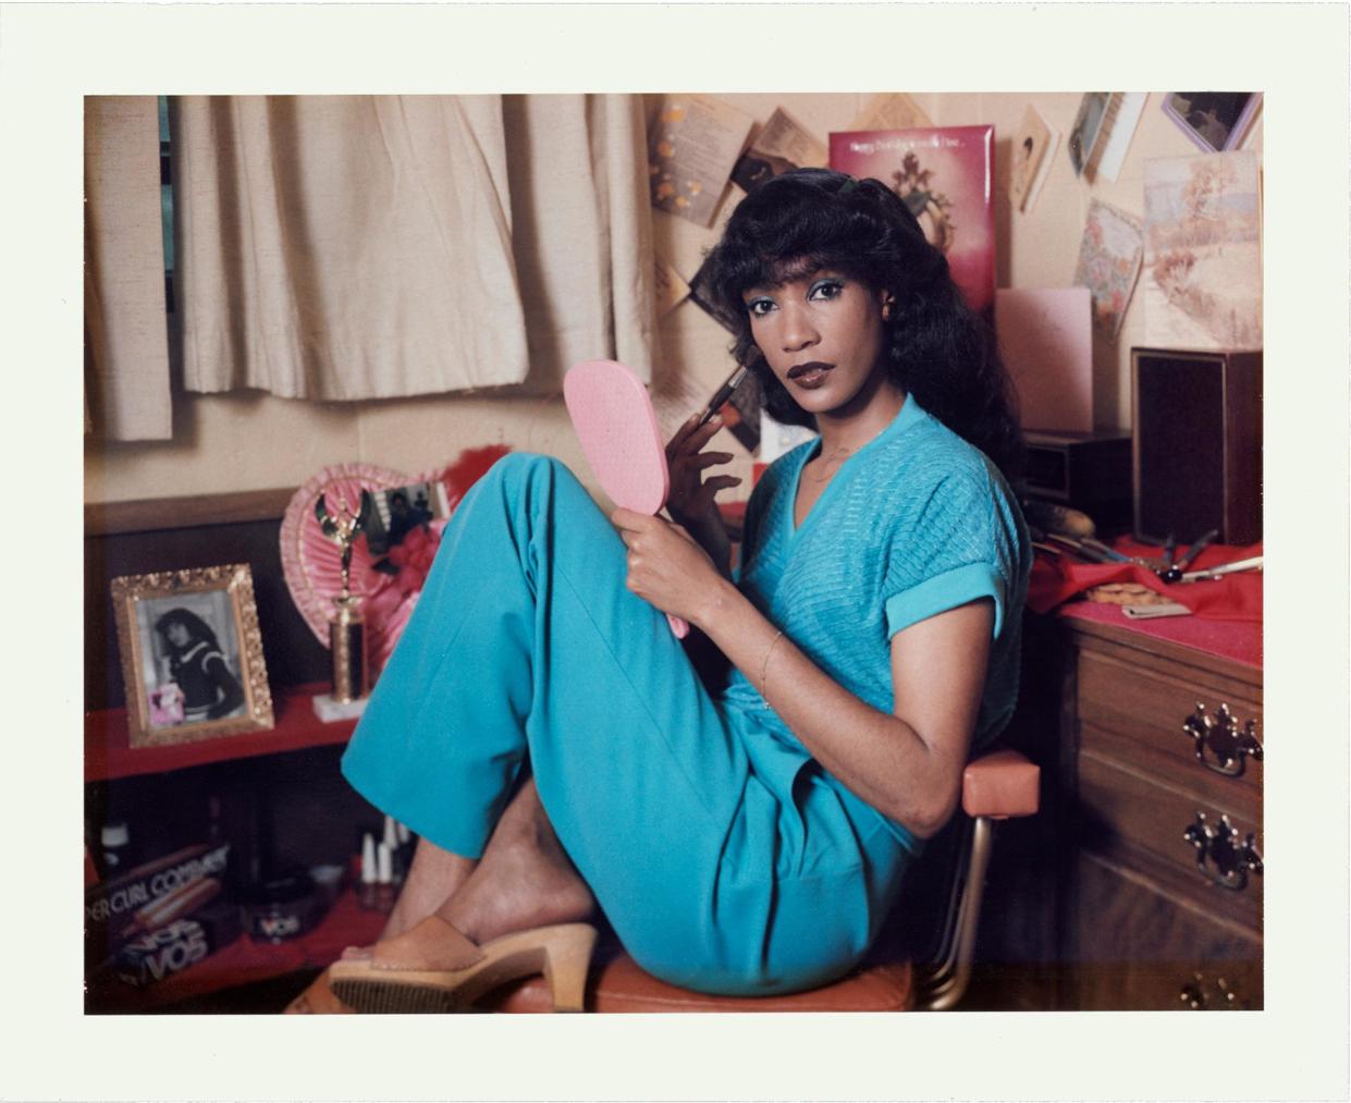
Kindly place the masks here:
<instances>
[{"instance_id":1,"label":"turquoise pants worn by the seated woman","mask_svg":"<svg viewBox=\"0 0 1351 1103\"><path fill-rule=\"evenodd\" d=\"M528 769L624 948L674 984L767 995L847 972L908 852L805 750L724 710L624 577L566 466L499 461L446 526L343 773L478 857Z\"/></svg>"}]
</instances>

